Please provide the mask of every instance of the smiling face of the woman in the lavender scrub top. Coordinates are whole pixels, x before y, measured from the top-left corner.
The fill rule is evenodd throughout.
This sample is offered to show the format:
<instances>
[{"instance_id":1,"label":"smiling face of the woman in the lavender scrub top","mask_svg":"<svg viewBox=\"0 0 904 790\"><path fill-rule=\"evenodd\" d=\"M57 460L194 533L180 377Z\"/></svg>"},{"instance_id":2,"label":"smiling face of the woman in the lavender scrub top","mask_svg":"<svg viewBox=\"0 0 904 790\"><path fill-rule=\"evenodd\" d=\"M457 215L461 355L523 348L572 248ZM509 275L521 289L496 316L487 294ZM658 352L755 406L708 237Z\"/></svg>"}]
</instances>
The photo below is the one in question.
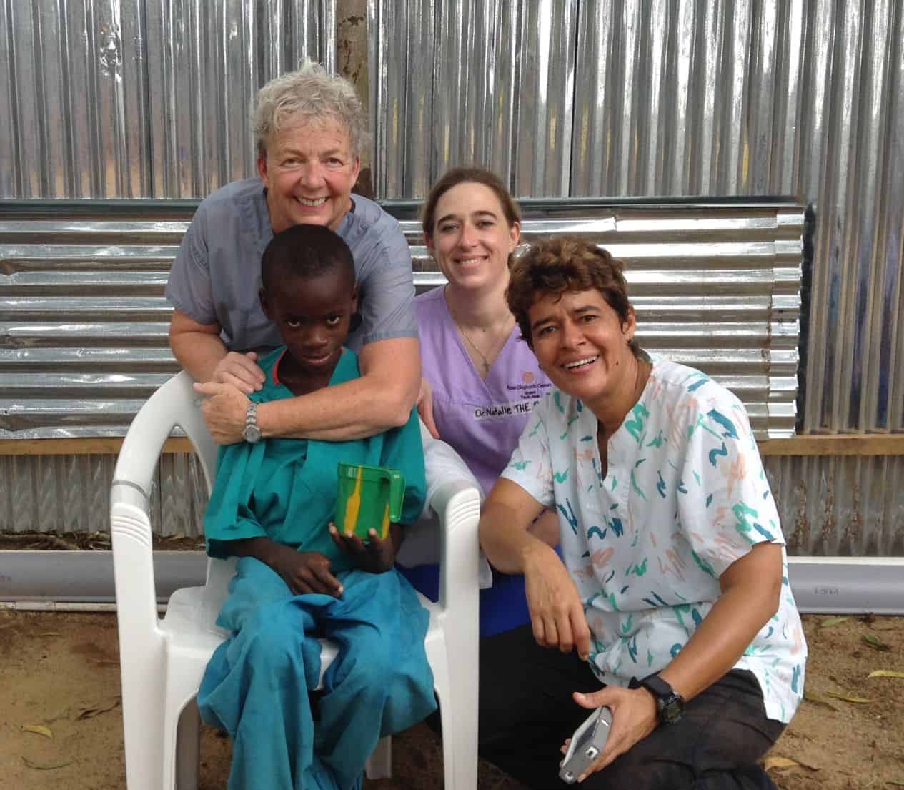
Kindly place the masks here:
<instances>
[{"instance_id":1,"label":"smiling face of the woman in the lavender scrub top","mask_svg":"<svg viewBox=\"0 0 904 790\"><path fill-rule=\"evenodd\" d=\"M518 222L509 227L493 190L483 183L459 183L439 198L435 216L425 241L449 284L504 288L521 227Z\"/></svg>"}]
</instances>

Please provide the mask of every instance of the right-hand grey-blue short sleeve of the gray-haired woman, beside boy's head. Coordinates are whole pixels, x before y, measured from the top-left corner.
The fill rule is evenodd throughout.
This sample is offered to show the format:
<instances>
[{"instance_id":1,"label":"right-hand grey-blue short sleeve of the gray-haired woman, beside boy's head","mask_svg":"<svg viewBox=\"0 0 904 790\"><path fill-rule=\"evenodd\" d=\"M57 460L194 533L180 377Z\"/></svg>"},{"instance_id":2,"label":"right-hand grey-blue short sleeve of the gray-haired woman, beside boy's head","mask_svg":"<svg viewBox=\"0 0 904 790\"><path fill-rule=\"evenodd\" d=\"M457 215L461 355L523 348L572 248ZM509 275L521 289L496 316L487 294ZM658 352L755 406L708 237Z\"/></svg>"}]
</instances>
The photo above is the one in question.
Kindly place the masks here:
<instances>
[{"instance_id":1,"label":"right-hand grey-blue short sleeve of the gray-haired woman, beside boy's head","mask_svg":"<svg viewBox=\"0 0 904 790\"><path fill-rule=\"evenodd\" d=\"M380 240L359 266L362 343L417 337L411 250L398 221L386 217Z\"/></svg>"}]
</instances>

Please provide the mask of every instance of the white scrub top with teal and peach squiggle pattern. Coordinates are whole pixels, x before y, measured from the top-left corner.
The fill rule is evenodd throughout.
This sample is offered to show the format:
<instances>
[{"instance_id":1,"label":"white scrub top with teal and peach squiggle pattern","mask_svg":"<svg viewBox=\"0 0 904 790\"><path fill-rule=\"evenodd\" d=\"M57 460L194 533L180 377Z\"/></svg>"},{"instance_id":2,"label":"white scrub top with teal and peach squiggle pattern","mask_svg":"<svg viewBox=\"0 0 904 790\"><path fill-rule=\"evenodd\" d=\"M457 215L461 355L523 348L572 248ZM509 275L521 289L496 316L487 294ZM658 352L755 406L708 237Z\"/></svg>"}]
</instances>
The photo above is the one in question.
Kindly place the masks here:
<instances>
[{"instance_id":1,"label":"white scrub top with teal and peach squiggle pattern","mask_svg":"<svg viewBox=\"0 0 904 790\"><path fill-rule=\"evenodd\" d=\"M720 596L720 574L754 544L779 543L778 611L734 668L756 676L769 719L789 721L804 693L806 643L743 405L702 372L657 359L609 438L605 478L597 428L580 400L554 390L533 409L502 475L559 512L591 668L618 686L659 672Z\"/></svg>"}]
</instances>

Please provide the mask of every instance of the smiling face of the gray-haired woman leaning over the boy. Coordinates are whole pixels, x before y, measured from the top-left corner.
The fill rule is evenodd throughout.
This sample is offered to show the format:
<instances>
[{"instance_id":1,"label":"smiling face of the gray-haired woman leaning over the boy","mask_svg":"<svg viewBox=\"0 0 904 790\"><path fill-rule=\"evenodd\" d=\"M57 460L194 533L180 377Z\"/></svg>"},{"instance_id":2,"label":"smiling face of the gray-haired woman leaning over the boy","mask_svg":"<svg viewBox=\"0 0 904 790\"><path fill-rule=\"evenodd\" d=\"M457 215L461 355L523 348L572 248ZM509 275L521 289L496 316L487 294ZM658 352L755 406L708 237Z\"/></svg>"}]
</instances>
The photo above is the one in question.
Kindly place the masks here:
<instances>
[{"instance_id":1,"label":"smiling face of the gray-haired woman leaning over the boy","mask_svg":"<svg viewBox=\"0 0 904 790\"><path fill-rule=\"evenodd\" d=\"M302 224L336 230L352 208L359 169L348 130L332 118L280 128L258 159L273 232Z\"/></svg>"}]
</instances>

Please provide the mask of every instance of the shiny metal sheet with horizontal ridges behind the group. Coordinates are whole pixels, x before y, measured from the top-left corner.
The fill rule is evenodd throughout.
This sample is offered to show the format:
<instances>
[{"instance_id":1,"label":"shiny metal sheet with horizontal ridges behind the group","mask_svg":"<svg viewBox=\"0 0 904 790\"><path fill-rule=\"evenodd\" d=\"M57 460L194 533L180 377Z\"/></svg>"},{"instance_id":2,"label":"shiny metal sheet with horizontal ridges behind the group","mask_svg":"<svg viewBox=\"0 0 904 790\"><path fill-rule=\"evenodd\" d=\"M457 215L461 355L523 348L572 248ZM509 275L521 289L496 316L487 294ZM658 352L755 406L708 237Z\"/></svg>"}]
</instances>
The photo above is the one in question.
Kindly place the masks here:
<instances>
[{"instance_id":1,"label":"shiny metal sheet with horizontal ridges behind the group","mask_svg":"<svg viewBox=\"0 0 904 790\"><path fill-rule=\"evenodd\" d=\"M410 219L416 204L387 208L401 218L419 289L443 282ZM0 437L125 433L177 370L163 293L192 209L186 204L180 220L166 202L0 206ZM558 201L524 209L525 241L580 233L626 261L638 339L650 351L729 386L758 437L794 433L800 206Z\"/></svg>"}]
</instances>

